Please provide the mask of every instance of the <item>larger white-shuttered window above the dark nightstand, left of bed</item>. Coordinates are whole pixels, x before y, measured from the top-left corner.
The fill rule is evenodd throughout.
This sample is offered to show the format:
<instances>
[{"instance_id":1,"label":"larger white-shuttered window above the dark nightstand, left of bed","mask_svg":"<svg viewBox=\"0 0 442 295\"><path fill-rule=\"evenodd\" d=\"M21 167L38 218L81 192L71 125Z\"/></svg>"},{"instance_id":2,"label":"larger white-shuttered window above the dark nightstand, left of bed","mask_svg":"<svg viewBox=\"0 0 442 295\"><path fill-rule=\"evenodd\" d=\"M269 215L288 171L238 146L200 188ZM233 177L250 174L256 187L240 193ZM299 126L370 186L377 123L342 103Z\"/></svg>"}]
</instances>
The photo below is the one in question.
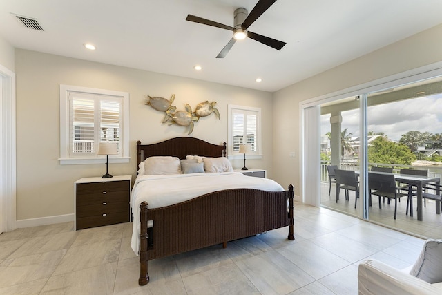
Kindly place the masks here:
<instances>
[{"instance_id":1,"label":"larger white-shuttered window above the dark nightstand, left of bed","mask_svg":"<svg viewBox=\"0 0 442 295\"><path fill-rule=\"evenodd\" d=\"M99 162L99 142L117 142L128 162L128 93L60 85L60 164Z\"/></svg>"}]
</instances>

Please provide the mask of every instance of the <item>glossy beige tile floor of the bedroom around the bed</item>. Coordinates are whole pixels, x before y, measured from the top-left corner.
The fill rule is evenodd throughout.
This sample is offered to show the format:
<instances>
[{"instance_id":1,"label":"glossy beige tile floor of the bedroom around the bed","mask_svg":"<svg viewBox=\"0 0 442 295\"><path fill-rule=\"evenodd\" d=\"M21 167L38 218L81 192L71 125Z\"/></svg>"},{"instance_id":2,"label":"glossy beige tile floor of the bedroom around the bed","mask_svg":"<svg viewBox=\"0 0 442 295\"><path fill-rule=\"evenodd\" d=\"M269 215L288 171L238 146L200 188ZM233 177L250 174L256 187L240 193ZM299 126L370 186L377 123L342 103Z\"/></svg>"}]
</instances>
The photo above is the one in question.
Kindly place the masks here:
<instances>
[{"instance_id":1,"label":"glossy beige tile floor of the bedroom around the bed","mask_svg":"<svg viewBox=\"0 0 442 295\"><path fill-rule=\"evenodd\" d=\"M329 209L295 204L288 229L149 262L139 286L131 223L73 223L0 235L0 294L357 294L358 263L414 263L423 240Z\"/></svg>"}]
</instances>

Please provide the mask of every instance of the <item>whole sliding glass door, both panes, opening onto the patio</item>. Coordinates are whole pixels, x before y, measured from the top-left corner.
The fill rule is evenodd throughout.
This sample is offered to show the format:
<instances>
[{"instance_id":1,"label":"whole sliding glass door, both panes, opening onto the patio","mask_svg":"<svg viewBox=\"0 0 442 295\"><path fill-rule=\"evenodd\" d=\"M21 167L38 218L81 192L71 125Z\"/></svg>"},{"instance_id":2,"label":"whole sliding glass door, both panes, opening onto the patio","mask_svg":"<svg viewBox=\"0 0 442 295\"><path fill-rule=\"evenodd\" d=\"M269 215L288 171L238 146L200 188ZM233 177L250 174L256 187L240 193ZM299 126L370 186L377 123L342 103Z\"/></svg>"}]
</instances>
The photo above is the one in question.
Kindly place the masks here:
<instances>
[{"instance_id":1,"label":"whole sliding glass door, both panes, opening onto the patio","mask_svg":"<svg viewBox=\"0 0 442 295\"><path fill-rule=\"evenodd\" d=\"M442 238L436 201L424 198L421 203L416 193L400 198L394 219L395 201L369 198L368 188L368 171L376 169L396 174L426 171L428 178L442 180L442 77L361 91L318 106L320 205L417 236ZM331 167L356 171L358 189L336 180ZM417 218L417 207L422 220Z\"/></svg>"}]
</instances>

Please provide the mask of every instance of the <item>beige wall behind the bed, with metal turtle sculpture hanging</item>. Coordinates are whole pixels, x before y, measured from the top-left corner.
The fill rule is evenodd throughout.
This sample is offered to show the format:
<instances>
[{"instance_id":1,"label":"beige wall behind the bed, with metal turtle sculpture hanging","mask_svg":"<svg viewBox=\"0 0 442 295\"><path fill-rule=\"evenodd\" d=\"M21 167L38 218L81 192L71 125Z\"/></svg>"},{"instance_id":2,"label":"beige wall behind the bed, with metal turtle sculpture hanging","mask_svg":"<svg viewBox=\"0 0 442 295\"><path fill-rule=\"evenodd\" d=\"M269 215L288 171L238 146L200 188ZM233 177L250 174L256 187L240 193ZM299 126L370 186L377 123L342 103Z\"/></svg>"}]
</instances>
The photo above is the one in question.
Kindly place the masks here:
<instances>
[{"instance_id":1,"label":"beige wall behind the bed, with metal turtle sculpture hanging","mask_svg":"<svg viewBox=\"0 0 442 295\"><path fill-rule=\"evenodd\" d=\"M131 162L110 164L113 175L135 178L137 140L153 143L187 136L186 129L162 125L164 115L146 106L145 95L169 99L175 94L177 108L188 103L218 102L221 120L204 117L195 123L192 137L222 144L227 142L227 104L262 108L262 160L247 160L247 166L267 169L273 163L272 94L195 79L151 73L144 70L98 64L29 50L15 51L17 75L17 220L59 216L74 212L75 180L104 174L104 164L60 165L59 84L102 88L130 93ZM233 160L234 168L242 160Z\"/></svg>"}]
</instances>

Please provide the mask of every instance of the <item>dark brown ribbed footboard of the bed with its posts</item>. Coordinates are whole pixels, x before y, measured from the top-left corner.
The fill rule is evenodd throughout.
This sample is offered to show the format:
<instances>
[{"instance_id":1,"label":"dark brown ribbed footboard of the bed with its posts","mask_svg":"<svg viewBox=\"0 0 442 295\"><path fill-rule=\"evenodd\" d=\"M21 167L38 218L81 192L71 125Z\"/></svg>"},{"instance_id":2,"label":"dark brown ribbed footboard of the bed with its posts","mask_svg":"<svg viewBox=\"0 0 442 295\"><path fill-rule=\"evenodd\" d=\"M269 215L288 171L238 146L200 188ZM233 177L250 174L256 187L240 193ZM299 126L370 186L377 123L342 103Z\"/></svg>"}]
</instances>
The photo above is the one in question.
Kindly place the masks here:
<instances>
[{"instance_id":1,"label":"dark brown ribbed footboard of the bed with its posts","mask_svg":"<svg viewBox=\"0 0 442 295\"><path fill-rule=\"evenodd\" d=\"M168 207L140 205L140 278L149 281L148 260L260 234L289 226L294 240L294 189L272 192L257 189L215 191ZM148 229L153 220L153 229Z\"/></svg>"}]
</instances>

